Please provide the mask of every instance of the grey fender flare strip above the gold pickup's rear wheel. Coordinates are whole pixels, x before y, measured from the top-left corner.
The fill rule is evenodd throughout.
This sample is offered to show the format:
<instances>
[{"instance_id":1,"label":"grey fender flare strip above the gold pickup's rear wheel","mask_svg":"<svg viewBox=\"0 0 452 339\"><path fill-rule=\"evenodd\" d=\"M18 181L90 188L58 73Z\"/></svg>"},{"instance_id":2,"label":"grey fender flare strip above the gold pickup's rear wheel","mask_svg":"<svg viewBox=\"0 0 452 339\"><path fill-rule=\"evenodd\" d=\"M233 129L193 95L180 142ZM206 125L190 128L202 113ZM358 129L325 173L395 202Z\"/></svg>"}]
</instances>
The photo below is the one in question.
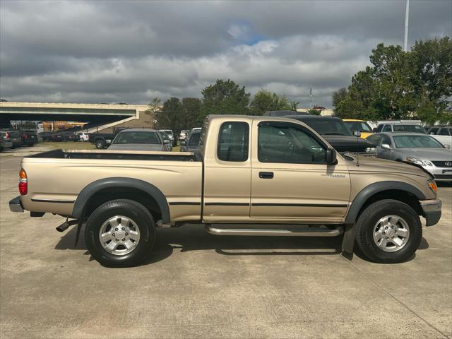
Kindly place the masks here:
<instances>
[{"instance_id":1,"label":"grey fender flare strip above the gold pickup's rear wheel","mask_svg":"<svg viewBox=\"0 0 452 339\"><path fill-rule=\"evenodd\" d=\"M162 191L160 191L160 189L157 189L157 187L155 187L153 184L149 184L148 182L144 182L143 180L125 177L99 179L95 182L92 182L88 186L85 186L85 188L81 190L80 194L78 194L76 202L74 203L72 210L73 217L81 218L85 204L90 199L90 197L96 194L98 191L102 189L118 187L124 187L126 189L138 189L152 196L155 201L157 201L157 204L162 211L162 222L170 222L168 202L165 198L165 195L162 194Z\"/></svg>"}]
</instances>

